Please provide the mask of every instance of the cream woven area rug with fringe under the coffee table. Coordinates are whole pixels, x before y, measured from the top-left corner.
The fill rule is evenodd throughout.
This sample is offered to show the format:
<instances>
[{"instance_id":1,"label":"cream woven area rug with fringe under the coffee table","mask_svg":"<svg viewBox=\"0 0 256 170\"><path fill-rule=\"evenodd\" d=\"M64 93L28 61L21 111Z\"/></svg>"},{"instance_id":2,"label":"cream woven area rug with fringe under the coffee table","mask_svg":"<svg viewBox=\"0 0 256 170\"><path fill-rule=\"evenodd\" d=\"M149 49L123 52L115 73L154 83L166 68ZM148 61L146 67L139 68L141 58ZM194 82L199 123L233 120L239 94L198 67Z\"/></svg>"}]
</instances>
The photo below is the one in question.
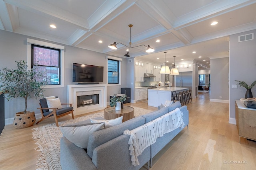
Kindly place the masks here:
<instances>
[{"instance_id":1,"label":"cream woven area rug with fringe under the coffee table","mask_svg":"<svg viewBox=\"0 0 256 170\"><path fill-rule=\"evenodd\" d=\"M150 110L140 107L132 107L134 108L135 117L151 112ZM59 126L92 119L94 117L104 117L104 111L70 119L68 121L62 121L59 122ZM33 139L38 145L35 149L41 152L37 158L37 166L39 167L37 170L62 170L60 166L60 138L62 137L60 128L56 126L56 123L52 123L36 127L32 130Z\"/></svg>"}]
</instances>

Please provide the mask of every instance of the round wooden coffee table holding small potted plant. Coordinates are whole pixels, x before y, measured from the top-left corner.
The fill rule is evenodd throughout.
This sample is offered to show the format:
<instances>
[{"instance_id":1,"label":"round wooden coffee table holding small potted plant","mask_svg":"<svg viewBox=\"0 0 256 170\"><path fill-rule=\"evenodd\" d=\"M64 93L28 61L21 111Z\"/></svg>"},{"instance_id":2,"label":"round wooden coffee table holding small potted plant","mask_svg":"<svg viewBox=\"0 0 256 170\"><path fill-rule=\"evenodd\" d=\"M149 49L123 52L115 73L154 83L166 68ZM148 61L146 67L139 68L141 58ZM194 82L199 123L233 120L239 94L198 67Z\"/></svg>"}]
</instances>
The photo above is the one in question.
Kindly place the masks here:
<instances>
[{"instance_id":1,"label":"round wooden coffee table holding small potted plant","mask_svg":"<svg viewBox=\"0 0 256 170\"><path fill-rule=\"evenodd\" d=\"M123 116L122 122L134 118L134 108L130 106L124 106L123 109L116 110L115 107L109 106L104 109L104 119L116 119L121 116Z\"/></svg>"}]
</instances>

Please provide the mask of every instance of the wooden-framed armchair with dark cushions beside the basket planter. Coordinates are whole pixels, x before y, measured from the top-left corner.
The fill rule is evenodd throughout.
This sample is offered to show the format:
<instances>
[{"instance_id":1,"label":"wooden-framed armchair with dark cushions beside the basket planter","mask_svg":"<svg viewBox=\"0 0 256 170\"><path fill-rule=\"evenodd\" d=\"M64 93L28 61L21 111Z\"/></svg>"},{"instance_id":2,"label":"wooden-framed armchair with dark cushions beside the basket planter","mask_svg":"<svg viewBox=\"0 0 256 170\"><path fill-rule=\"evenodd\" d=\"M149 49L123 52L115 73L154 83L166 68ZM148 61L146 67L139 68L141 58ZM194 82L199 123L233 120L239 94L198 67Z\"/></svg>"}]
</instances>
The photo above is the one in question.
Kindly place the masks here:
<instances>
[{"instance_id":1,"label":"wooden-framed armchair with dark cushions beside the basket planter","mask_svg":"<svg viewBox=\"0 0 256 170\"><path fill-rule=\"evenodd\" d=\"M55 97L55 98L58 98L58 97ZM39 102L40 102L39 103L40 108L37 108L37 109L40 109L42 118L37 123L43 121L49 116L54 116L56 126L59 126L58 118L60 117L72 114L72 119L74 119L74 113L73 113L74 110L73 110L72 104L61 104L61 105L69 105L69 107L62 107L61 109L57 109L57 108L48 107L46 98L40 99Z\"/></svg>"}]
</instances>

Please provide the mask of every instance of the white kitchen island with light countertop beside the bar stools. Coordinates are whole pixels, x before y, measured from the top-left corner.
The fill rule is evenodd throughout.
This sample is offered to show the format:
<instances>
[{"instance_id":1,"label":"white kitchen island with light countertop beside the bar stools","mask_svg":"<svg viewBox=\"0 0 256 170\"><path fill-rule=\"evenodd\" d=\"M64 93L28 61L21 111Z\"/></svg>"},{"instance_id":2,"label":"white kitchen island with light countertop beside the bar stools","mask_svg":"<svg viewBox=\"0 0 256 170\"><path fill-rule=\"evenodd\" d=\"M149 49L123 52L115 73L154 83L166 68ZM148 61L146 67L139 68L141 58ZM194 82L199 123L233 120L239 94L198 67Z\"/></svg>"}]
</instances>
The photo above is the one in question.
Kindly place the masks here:
<instances>
[{"instance_id":1,"label":"white kitchen island with light countertop beside the bar stools","mask_svg":"<svg viewBox=\"0 0 256 170\"><path fill-rule=\"evenodd\" d=\"M164 104L166 100L172 100L172 92L178 94L184 90L189 90L189 88L170 87L148 89L148 106L158 107Z\"/></svg>"}]
</instances>

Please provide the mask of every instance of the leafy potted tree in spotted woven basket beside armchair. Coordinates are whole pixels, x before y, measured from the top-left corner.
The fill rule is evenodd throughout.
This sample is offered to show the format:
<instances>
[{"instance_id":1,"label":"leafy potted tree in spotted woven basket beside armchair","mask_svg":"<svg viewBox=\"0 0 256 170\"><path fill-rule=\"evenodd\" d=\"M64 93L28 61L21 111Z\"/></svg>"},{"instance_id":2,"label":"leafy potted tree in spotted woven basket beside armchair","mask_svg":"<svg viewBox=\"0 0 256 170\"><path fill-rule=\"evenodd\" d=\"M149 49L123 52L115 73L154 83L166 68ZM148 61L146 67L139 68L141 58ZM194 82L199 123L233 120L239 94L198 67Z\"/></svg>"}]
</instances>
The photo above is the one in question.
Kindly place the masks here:
<instances>
[{"instance_id":1,"label":"leafy potted tree in spotted woven basket beside armchair","mask_svg":"<svg viewBox=\"0 0 256 170\"><path fill-rule=\"evenodd\" d=\"M42 97L43 86L47 79L38 68L28 70L26 61L16 61L17 69L3 68L0 70L0 89L9 101L12 98L24 98L24 111L16 113L14 127L20 129L29 127L36 121L34 111L27 111L27 101L32 97Z\"/></svg>"}]
</instances>

